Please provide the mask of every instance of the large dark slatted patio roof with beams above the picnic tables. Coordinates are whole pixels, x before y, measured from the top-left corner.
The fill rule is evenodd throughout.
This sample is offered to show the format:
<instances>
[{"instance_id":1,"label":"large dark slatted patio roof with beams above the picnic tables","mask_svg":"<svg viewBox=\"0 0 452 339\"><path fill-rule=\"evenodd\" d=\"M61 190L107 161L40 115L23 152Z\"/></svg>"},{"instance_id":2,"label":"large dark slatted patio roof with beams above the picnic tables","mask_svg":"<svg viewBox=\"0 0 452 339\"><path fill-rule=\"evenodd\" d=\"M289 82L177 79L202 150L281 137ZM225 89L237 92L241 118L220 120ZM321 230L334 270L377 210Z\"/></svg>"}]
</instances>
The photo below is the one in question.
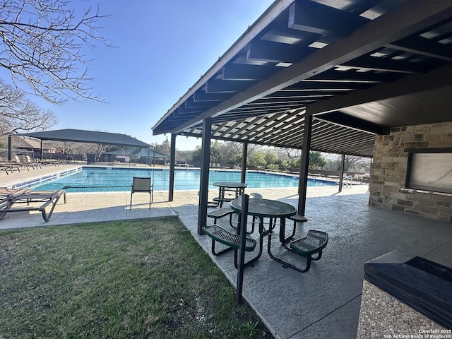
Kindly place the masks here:
<instances>
[{"instance_id":1,"label":"large dark slatted patio roof with beams above the picnic tables","mask_svg":"<svg viewBox=\"0 0 452 339\"><path fill-rule=\"evenodd\" d=\"M220 38L220 37L219 37ZM371 157L377 134L451 121L452 0L277 0L153 134Z\"/></svg>"}]
</instances>

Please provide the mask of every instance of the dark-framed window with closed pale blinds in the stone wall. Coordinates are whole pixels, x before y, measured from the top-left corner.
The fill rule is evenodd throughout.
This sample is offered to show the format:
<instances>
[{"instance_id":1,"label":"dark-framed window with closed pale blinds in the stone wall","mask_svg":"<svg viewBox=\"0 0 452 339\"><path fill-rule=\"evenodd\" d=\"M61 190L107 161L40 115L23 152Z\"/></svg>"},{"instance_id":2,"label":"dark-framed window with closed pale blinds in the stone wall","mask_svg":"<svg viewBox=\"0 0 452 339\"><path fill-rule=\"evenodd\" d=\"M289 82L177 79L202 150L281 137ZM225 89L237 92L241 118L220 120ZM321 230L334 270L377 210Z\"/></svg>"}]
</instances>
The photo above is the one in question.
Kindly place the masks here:
<instances>
[{"instance_id":1,"label":"dark-framed window with closed pale blinds in the stone wall","mask_svg":"<svg viewBox=\"0 0 452 339\"><path fill-rule=\"evenodd\" d=\"M406 186L452 193L452 153L410 153Z\"/></svg>"}]
</instances>

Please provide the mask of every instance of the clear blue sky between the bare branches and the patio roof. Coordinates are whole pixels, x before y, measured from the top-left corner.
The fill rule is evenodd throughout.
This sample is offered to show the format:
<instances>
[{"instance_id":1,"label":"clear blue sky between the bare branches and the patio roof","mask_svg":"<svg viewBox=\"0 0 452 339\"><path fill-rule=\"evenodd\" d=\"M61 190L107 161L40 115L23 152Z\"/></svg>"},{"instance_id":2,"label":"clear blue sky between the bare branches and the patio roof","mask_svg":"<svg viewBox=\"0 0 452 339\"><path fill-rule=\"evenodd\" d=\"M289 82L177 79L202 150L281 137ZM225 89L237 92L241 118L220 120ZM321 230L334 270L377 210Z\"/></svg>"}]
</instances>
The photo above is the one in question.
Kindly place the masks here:
<instances>
[{"instance_id":1,"label":"clear blue sky between the bare branches and the patio roof","mask_svg":"<svg viewBox=\"0 0 452 339\"><path fill-rule=\"evenodd\" d=\"M108 103L68 101L50 105L59 123L53 129L87 129L126 133L146 143L152 127L179 97L218 60L273 0L97 0L73 1L76 6L100 4L101 32L117 48L100 44L88 58L88 82ZM177 138L177 149L201 141Z\"/></svg>"}]
</instances>

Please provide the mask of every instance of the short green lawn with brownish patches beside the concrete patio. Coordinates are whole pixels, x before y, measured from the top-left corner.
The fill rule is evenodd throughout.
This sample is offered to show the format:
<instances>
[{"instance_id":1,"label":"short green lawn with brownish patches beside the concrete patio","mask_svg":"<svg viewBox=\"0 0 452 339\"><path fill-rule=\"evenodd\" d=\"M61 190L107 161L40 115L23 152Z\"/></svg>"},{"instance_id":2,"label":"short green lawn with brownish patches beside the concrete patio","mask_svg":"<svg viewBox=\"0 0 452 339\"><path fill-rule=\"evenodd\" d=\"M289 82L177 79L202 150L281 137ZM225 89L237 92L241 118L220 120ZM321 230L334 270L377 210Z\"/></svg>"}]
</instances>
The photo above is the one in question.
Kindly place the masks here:
<instances>
[{"instance_id":1,"label":"short green lawn with brownish patches beside the concrete patio","mask_svg":"<svg viewBox=\"0 0 452 339\"><path fill-rule=\"evenodd\" d=\"M177 220L0 232L0 338L270 338Z\"/></svg>"}]
</instances>

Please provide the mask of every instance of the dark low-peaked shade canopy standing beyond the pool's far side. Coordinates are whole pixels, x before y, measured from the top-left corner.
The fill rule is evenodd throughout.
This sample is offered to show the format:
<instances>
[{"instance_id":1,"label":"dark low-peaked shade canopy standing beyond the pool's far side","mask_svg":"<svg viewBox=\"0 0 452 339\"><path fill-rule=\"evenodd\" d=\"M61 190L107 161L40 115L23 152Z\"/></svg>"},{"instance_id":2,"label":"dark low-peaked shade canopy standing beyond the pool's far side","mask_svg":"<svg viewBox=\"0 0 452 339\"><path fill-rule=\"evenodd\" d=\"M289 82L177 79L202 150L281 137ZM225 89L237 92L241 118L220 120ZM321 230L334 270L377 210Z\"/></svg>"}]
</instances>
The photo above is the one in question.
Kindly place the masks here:
<instances>
[{"instance_id":1,"label":"dark low-peaked shade canopy standing beyond the pool's far side","mask_svg":"<svg viewBox=\"0 0 452 339\"><path fill-rule=\"evenodd\" d=\"M138 148L150 148L148 143L143 143L126 134L84 131L81 129L57 129L54 131L42 131L21 133L19 136L30 136L40 140L73 141L76 143L102 143L107 145L129 146Z\"/></svg>"}]
</instances>

